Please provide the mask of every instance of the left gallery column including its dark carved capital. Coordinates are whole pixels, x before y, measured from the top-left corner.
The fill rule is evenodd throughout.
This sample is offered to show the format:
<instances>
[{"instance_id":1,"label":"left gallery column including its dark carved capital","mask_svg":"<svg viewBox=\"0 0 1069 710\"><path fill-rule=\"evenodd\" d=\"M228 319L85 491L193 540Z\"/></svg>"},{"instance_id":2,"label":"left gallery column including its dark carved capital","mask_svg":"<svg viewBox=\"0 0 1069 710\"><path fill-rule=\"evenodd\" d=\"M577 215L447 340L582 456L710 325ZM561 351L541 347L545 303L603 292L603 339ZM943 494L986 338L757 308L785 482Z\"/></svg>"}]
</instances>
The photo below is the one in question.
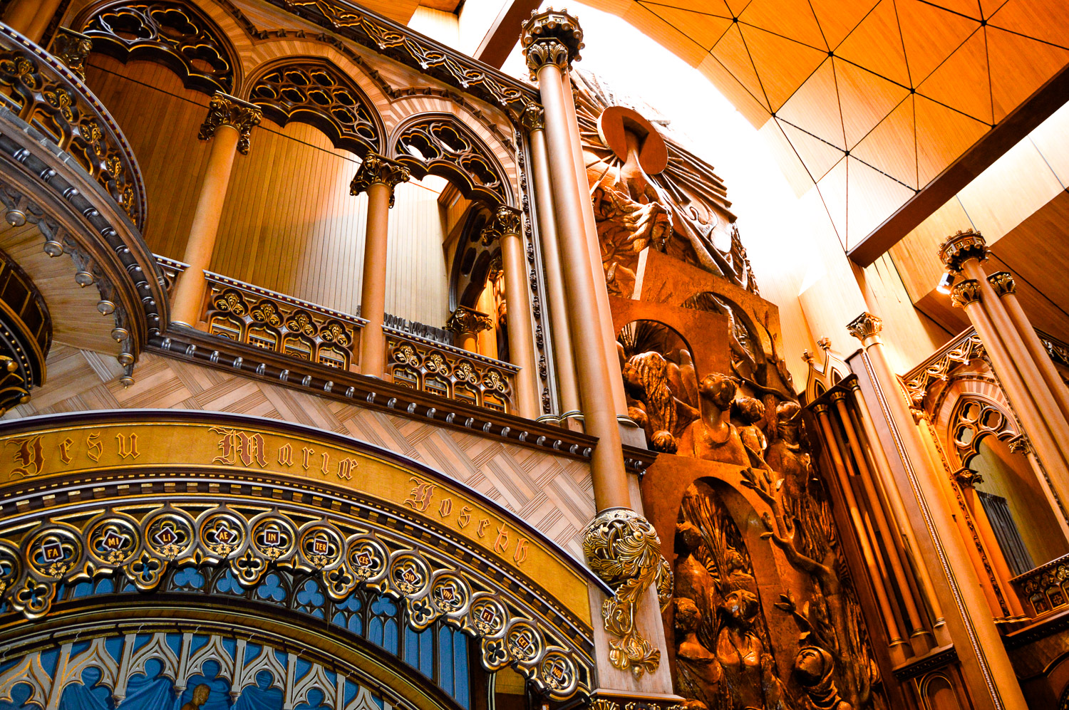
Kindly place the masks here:
<instances>
[{"instance_id":1,"label":"left gallery column including its dark carved capital","mask_svg":"<svg viewBox=\"0 0 1069 710\"><path fill-rule=\"evenodd\" d=\"M211 139L212 151L182 256L188 266L179 278L171 299L171 322L192 328L200 319L206 285L204 269L212 264L219 218L230 185L230 171L234 167L234 152L248 155L249 133L262 117L259 107L221 92L213 96L208 104L207 119L201 124L198 138L202 141Z\"/></svg>"}]
</instances>

